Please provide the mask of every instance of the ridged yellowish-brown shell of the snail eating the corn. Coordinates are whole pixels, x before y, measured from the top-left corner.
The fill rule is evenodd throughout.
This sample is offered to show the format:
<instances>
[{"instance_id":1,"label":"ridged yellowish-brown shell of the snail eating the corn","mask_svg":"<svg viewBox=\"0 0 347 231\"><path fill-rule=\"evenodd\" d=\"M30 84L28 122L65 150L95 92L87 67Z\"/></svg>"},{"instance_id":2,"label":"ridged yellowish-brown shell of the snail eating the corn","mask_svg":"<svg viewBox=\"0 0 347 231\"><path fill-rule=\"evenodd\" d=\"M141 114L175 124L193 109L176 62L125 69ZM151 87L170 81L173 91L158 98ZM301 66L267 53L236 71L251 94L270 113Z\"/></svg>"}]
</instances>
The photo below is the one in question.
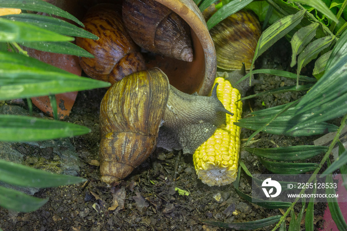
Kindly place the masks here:
<instances>
[{"instance_id":1,"label":"ridged yellowish-brown shell of the snail eating the corn","mask_svg":"<svg viewBox=\"0 0 347 231\"><path fill-rule=\"evenodd\" d=\"M169 98L169 80L159 68L116 82L100 108L100 172L107 183L122 179L153 152Z\"/></svg>"}]
</instances>

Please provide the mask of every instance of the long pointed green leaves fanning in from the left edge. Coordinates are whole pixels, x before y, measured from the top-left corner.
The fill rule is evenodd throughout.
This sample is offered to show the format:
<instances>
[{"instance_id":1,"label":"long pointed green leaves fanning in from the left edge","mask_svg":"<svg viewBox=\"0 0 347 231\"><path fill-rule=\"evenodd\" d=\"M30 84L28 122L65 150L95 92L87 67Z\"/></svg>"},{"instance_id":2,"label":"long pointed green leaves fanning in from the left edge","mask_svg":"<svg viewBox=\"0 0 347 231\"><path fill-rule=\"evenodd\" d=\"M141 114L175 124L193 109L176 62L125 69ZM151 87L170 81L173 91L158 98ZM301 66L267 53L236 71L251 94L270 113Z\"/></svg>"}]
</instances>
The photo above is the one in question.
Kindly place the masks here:
<instances>
[{"instance_id":1,"label":"long pointed green leaves fanning in from the left edge","mask_svg":"<svg viewBox=\"0 0 347 231\"><path fill-rule=\"evenodd\" d=\"M21 8L55 14L83 24L74 16L42 0L0 0L0 7ZM93 57L68 42L71 36L97 39L80 27L51 16L23 13L0 17L0 100L44 96L110 86L109 83L83 78L30 58L19 46L60 54ZM11 52L10 52L11 51ZM52 98L52 97L51 97ZM57 106L54 108L57 111ZM90 129L68 122L29 116L0 115L0 141L38 141L73 137ZM85 179L41 170L0 160L0 181L30 187L55 187ZM21 211L37 210L48 201L0 186L0 206Z\"/></svg>"}]
</instances>

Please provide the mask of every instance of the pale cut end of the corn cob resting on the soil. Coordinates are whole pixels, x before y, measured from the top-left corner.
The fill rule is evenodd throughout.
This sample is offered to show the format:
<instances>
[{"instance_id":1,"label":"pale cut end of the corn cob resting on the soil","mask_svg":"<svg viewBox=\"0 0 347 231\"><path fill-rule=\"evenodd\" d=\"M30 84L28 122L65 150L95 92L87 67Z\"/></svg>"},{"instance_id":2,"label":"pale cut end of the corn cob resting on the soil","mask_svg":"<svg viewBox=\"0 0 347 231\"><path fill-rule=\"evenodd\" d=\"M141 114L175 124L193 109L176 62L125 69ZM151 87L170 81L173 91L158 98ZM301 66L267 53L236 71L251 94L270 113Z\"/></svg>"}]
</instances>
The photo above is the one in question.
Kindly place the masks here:
<instances>
[{"instance_id":1,"label":"pale cut end of the corn cob resting on the soil","mask_svg":"<svg viewBox=\"0 0 347 231\"><path fill-rule=\"evenodd\" d=\"M237 169L220 168L210 163L206 170L196 170L196 174L203 183L209 186L222 186L236 179Z\"/></svg>"}]
</instances>

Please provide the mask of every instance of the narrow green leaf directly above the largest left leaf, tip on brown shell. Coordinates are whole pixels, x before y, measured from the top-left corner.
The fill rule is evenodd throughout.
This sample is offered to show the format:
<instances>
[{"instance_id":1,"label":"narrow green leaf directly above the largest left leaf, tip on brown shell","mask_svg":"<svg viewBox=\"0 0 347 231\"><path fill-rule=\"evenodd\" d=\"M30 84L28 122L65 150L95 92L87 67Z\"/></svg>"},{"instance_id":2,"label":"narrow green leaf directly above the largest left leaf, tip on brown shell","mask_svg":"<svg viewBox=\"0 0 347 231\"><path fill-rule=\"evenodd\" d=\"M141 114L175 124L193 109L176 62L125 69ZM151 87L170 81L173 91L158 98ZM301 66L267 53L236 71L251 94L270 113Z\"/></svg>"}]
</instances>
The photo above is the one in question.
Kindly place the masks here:
<instances>
[{"instance_id":1,"label":"narrow green leaf directly above the largest left leaf, tip on brown shell","mask_svg":"<svg viewBox=\"0 0 347 231\"><path fill-rule=\"evenodd\" d=\"M44 52L94 58L92 54L70 42L23 42L20 45Z\"/></svg>"}]
</instances>

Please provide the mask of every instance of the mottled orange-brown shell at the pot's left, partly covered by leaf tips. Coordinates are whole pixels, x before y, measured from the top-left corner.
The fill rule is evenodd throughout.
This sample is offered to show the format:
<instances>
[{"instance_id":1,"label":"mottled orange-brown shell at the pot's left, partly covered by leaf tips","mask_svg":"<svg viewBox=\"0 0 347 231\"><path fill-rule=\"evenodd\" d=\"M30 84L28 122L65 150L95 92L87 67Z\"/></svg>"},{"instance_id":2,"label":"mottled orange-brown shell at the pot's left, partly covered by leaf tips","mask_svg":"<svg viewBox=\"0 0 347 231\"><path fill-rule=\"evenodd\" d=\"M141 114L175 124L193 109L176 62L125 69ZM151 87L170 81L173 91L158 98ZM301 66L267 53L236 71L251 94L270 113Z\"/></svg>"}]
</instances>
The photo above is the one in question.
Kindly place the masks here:
<instances>
[{"instance_id":1,"label":"mottled orange-brown shell at the pot's left, partly covered by leaf tips","mask_svg":"<svg viewBox=\"0 0 347 231\"><path fill-rule=\"evenodd\" d=\"M76 38L76 44L95 56L80 58L84 72L94 78L114 84L124 76L146 69L136 44L125 30L121 6L98 4L90 8L82 20L85 29L99 40Z\"/></svg>"}]
</instances>

